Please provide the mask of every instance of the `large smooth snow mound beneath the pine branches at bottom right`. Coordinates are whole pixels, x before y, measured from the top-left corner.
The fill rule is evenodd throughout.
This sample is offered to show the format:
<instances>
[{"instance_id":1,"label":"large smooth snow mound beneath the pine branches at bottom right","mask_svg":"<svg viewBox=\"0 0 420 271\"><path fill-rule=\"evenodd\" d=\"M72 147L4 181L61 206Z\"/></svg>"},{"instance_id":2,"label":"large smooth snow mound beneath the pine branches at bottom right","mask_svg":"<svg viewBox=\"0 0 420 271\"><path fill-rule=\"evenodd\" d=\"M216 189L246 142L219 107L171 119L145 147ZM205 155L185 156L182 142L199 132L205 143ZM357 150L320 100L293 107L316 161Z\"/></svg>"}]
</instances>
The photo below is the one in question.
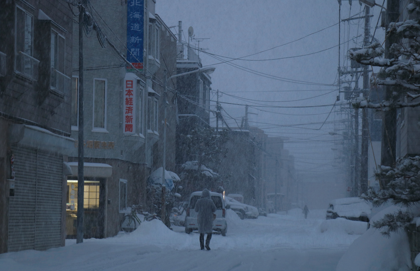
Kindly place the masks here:
<instances>
[{"instance_id":1,"label":"large smooth snow mound beneath the pine branches at bottom right","mask_svg":"<svg viewBox=\"0 0 420 271\"><path fill-rule=\"evenodd\" d=\"M386 213L399 210L392 205L378 212L371 222L383 218ZM385 237L381 230L371 227L356 239L340 259L336 271L409 271L410 249L405 232L393 232Z\"/></svg>"}]
</instances>

